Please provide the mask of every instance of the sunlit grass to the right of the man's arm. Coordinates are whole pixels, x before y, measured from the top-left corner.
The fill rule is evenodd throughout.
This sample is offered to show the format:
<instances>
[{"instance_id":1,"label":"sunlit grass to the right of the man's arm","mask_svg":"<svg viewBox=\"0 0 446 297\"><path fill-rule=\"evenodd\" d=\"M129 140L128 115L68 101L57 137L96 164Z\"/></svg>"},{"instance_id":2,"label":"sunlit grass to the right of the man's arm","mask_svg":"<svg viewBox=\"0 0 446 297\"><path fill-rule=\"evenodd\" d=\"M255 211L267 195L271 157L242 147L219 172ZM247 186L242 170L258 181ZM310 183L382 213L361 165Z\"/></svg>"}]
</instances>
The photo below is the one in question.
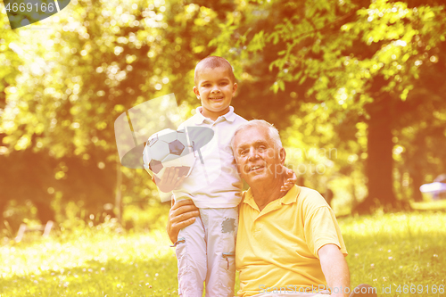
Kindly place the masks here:
<instances>
[{"instance_id":1,"label":"sunlit grass to the right of the man's arm","mask_svg":"<svg viewBox=\"0 0 446 297\"><path fill-rule=\"evenodd\" d=\"M340 226L350 253L351 286L368 283L383 296L408 296L410 288L410 295L445 295L445 212L346 218Z\"/></svg>"}]
</instances>

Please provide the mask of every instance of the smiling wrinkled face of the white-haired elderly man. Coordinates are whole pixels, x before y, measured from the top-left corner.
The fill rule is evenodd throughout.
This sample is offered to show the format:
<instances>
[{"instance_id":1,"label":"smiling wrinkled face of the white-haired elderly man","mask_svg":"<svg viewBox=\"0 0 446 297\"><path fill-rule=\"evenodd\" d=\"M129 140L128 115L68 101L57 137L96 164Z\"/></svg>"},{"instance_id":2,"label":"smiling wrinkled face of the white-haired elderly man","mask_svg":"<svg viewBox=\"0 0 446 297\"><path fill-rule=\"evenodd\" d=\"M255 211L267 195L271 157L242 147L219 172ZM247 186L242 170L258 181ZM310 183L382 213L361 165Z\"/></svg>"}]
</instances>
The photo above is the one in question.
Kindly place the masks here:
<instances>
[{"instance_id":1,"label":"smiling wrinkled face of the white-haired elderly man","mask_svg":"<svg viewBox=\"0 0 446 297\"><path fill-rule=\"evenodd\" d=\"M272 182L282 172L285 149L277 147L268 128L245 128L234 139L237 169L249 186Z\"/></svg>"}]
</instances>

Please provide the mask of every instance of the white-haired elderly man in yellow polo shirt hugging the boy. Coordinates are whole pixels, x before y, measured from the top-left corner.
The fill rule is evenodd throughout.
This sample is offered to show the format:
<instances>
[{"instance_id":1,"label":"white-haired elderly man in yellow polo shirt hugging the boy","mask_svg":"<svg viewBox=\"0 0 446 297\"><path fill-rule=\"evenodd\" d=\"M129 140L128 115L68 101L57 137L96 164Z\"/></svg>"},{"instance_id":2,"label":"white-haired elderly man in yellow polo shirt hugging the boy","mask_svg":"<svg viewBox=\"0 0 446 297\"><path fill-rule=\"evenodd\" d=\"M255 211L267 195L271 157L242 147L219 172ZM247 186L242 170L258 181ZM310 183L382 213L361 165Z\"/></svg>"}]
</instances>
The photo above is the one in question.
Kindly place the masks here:
<instances>
[{"instance_id":1,"label":"white-haired elderly man in yellow polo shirt hugging the boy","mask_svg":"<svg viewBox=\"0 0 446 297\"><path fill-rule=\"evenodd\" d=\"M232 141L237 169L251 187L239 205L235 265L239 296L349 296L347 250L333 210L317 191L293 186L280 192L285 162L277 129L252 120L235 131ZM172 242L198 211L191 202L169 213ZM361 285L351 295L376 296ZM315 294L316 293L316 294Z\"/></svg>"}]
</instances>

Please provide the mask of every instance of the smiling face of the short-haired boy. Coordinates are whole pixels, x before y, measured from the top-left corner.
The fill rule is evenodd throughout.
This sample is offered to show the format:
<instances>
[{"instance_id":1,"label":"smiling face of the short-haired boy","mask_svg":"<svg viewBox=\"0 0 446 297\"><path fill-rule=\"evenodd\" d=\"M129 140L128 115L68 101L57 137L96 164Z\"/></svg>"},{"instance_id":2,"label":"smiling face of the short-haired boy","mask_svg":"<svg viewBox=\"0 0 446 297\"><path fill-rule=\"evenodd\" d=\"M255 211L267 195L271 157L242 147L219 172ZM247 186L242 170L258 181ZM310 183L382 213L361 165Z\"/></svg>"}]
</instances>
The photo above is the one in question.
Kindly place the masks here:
<instances>
[{"instance_id":1,"label":"smiling face of the short-haired boy","mask_svg":"<svg viewBox=\"0 0 446 297\"><path fill-rule=\"evenodd\" d=\"M229 76L224 67L203 68L198 72L197 86L194 93L202 101L202 115L211 120L229 111L237 84Z\"/></svg>"}]
</instances>

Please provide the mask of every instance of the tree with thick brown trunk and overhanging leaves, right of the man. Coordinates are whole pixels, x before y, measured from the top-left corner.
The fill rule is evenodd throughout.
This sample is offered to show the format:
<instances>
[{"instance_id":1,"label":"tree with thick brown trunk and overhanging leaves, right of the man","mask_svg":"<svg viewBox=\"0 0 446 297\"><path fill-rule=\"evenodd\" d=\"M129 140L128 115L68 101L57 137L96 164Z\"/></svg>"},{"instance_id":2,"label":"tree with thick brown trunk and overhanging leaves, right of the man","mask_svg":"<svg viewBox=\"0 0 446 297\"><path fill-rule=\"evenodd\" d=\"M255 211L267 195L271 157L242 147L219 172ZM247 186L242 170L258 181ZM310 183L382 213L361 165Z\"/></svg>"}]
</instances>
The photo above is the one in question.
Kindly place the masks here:
<instances>
[{"instance_id":1,"label":"tree with thick brown trunk and overhanging leaves, right of the man","mask_svg":"<svg viewBox=\"0 0 446 297\"><path fill-rule=\"evenodd\" d=\"M430 79L421 77L424 69L443 59L435 52L445 40L443 4L387 0L252 3L238 6L234 14L239 15L238 23L227 23L231 32L227 36L239 36L237 41L231 43L227 36L216 39L215 44L222 47L219 53L234 47L245 60L255 56L254 61L268 64L269 75L276 78L271 88L280 95L271 102L285 106L282 116L293 104L286 89L302 98L301 103L325 103L338 125L346 117L348 122L367 123L368 197L357 210L397 207L392 132L402 126L401 107L419 108L428 101L444 108L437 97L421 103L412 96L418 80L427 83ZM240 21L249 10L262 17L249 24ZM257 80L261 86L259 76ZM439 86L434 88L430 94L439 92ZM268 113L266 106L260 109ZM430 116L417 115L410 124Z\"/></svg>"}]
</instances>

